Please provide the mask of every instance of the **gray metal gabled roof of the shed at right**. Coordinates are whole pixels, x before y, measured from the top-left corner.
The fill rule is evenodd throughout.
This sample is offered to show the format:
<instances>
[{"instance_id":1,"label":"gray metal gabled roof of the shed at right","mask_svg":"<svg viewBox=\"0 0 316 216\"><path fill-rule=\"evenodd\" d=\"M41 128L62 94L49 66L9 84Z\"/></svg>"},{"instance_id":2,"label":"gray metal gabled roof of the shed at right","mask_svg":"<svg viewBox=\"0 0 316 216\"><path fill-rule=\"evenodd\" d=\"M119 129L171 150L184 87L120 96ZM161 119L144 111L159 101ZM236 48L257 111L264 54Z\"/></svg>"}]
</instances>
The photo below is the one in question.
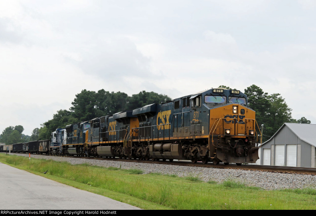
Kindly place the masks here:
<instances>
[{"instance_id":1,"label":"gray metal gabled roof of the shed at right","mask_svg":"<svg viewBox=\"0 0 316 216\"><path fill-rule=\"evenodd\" d=\"M316 147L316 124L284 123L271 139L275 137L284 126L287 126L299 139Z\"/></svg>"}]
</instances>

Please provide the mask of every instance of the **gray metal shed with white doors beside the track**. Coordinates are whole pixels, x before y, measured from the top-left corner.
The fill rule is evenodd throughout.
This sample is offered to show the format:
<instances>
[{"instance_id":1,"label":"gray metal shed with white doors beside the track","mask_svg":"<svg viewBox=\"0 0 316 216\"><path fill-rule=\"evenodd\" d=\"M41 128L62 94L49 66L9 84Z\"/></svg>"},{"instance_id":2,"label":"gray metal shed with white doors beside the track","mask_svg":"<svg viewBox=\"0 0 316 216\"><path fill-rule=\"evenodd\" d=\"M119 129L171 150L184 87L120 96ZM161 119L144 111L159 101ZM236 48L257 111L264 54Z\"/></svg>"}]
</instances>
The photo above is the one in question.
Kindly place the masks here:
<instances>
[{"instance_id":1,"label":"gray metal shed with white doors beside the track","mask_svg":"<svg viewBox=\"0 0 316 216\"><path fill-rule=\"evenodd\" d=\"M262 144L260 164L316 167L316 124L284 123Z\"/></svg>"}]
</instances>

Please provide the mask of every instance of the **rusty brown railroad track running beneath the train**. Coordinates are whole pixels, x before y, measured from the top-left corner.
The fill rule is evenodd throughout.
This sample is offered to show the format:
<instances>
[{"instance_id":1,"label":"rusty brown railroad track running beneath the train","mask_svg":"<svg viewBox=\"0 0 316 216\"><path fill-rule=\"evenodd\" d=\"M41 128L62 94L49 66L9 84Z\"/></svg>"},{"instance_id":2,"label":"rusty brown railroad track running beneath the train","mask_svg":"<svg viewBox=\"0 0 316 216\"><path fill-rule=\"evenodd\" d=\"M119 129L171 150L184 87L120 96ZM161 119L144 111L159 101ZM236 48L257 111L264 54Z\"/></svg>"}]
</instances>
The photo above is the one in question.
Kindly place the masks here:
<instances>
[{"instance_id":1,"label":"rusty brown railroad track running beneath the train","mask_svg":"<svg viewBox=\"0 0 316 216\"><path fill-rule=\"evenodd\" d=\"M5 153L4 153L5 154ZM10 153L16 155L25 155L23 153ZM45 154L43 154L45 156ZM48 155L47 155L48 156ZM237 166L235 164L218 164L215 165L212 162L203 164L202 162L192 163L191 161L146 161L146 160L136 160L136 159L119 159L112 157L86 157L86 156L62 156L70 158L84 158L91 160L112 160L112 161L124 161L124 162L137 162L137 163L154 163L154 164L169 164L169 165L178 165L178 166L191 166L191 167L209 167L209 168L219 168L219 169L243 169L243 170L258 170L258 171L267 171L267 172L277 172L277 173L300 173L300 174L311 174L316 175L316 168L307 168L307 167L283 167L283 166L266 166L266 165L256 165L256 164L242 164Z\"/></svg>"}]
</instances>

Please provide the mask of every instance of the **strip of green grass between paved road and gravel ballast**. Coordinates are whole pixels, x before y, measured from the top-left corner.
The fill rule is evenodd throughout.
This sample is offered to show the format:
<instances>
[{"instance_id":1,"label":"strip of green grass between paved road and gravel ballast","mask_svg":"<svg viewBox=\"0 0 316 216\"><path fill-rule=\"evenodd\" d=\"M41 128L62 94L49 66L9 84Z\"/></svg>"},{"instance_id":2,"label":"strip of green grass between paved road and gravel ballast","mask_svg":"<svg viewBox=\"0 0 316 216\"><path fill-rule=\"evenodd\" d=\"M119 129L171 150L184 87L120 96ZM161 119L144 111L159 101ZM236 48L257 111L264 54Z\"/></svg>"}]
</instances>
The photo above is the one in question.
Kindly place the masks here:
<instances>
[{"instance_id":1,"label":"strip of green grass between paved road and gravel ballast","mask_svg":"<svg viewBox=\"0 0 316 216\"><path fill-rule=\"evenodd\" d=\"M316 190L261 190L230 179L202 182L199 176L179 178L138 169L0 154L0 161L46 178L88 190L143 209L316 209ZM48 170L47 174L43 174ZM264 181L264 179L262 179Z\"/></svg>"}]
</instances>

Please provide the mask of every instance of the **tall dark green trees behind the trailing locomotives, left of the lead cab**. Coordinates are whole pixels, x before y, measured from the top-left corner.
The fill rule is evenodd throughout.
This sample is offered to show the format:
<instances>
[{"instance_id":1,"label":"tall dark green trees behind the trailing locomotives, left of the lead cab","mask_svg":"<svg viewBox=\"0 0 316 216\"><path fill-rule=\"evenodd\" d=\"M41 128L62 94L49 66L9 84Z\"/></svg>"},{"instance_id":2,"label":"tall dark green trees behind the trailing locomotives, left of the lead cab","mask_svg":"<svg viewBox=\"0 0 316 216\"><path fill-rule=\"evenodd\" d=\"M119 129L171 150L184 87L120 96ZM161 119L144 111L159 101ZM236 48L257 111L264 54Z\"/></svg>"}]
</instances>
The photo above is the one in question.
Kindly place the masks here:
<instances>
[{"instance_id":1,"label":"tall dark green trees behind the trailing locomotives, left of the lead cab","mask_svg":"<svg viewBox=\"0 0 316 216\"><path fill-rule=\"evenodd\" d=\"M42 127L38 130L38 139L50 139L53 131L69 124L166 101L171 101L171 98L155 92L141 91L128 96L124 92L108 92L104 89L95 92L84 89L81 93L76 94L69 110L57 111L51 120L41 125Z\"/></svg>"}]
</instances>

